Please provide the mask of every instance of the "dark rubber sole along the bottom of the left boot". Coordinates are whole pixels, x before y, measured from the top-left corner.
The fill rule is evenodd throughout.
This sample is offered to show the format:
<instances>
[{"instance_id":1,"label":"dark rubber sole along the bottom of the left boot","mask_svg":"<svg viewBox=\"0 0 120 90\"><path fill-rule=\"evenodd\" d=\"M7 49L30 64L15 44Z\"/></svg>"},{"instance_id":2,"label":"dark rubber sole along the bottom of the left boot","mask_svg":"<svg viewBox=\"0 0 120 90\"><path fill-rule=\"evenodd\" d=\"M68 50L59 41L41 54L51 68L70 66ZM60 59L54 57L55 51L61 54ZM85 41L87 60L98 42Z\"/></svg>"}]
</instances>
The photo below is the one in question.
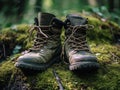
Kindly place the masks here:
<instances>
[{"instance_id":1,"label":"dark rubber sole along the bottom of the left boot","mask_svg":"<svg viewBox=\"0 0 120 90\"><path fill-rule=\"evenodd\" d=\"M58 63L60 61L60 57L56 57L50 60L48 63L42 64L30 64L23 61L18 61L15 63L15 66L22 69L31 69L31 70L45 70L50 67L54 63Z\"/></svg>"}]
</instances>

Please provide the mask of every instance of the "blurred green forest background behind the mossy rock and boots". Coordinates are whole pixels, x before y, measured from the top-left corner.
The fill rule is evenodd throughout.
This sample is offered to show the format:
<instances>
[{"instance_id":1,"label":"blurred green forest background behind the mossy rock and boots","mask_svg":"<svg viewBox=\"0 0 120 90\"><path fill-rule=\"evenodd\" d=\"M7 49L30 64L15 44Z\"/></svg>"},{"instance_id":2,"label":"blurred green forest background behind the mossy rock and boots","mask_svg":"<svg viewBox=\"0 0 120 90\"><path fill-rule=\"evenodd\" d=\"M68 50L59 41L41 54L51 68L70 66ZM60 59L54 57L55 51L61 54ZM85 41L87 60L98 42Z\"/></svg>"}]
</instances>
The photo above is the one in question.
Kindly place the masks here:
<instances>
[{"instance_id":1,"label":"blurred green forest background behind the mossy rock and boots","mask_svg":"<svg viewBox=\"0 0 120 90\"><path fill-rule=\"evenodd\" d=\"M57 17L74 12L96 14L120 24L120 0L0 0L0 28L32 24L39 11Z\"/></svg>"}]
</instances>

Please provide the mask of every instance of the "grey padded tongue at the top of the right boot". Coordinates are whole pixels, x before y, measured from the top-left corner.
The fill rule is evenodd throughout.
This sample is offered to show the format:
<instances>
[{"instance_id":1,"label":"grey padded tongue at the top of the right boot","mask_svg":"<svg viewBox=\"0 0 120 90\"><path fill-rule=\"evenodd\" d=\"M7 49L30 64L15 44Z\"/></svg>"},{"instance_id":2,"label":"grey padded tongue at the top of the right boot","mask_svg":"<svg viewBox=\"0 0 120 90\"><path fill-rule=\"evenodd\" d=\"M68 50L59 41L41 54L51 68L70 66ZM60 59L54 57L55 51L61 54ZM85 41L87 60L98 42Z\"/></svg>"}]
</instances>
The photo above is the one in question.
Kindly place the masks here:
<instances>
[{"instance_id":1,"label":"grey padded tongue at the top of the right boot","mask_svg":"<svg viewBox=\"0 0 120 90\"><path fill-rule=\"evenodd\" d=\"M67 19L70 21L70 24L73 26L87 24L87 19L77 14L69 14L67 15Z\"/></svg>"}]
</instances>

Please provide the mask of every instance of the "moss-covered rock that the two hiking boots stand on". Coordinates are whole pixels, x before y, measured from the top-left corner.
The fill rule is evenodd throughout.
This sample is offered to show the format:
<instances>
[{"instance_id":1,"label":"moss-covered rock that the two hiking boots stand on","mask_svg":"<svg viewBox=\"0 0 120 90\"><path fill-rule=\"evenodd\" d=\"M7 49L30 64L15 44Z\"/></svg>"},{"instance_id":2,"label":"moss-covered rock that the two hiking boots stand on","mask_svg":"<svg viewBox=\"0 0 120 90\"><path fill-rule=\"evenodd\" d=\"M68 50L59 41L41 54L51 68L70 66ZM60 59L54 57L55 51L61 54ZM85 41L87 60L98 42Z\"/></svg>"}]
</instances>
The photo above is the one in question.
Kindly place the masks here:
<instances>
[{"instance_id":1,"label":"moss-covered rock that the two hiking boots stand on","mask_svg":"<svg viewBox=\"0 0 120 90\"><path fill-rule=\"evenodd\" d=\"M120 27L114 22L102 22L97 18L88 17L89 24L94 25L94 30L88 30L87 39L91 51L97 56L100 69L96 73L71 72L64 61L52 65L45 71L35 72L31 75L24 73L26 83L31 90L58 90L57 81L52 73L53 68L61 78L65 90L81 90L82 85L87 90L119 90L120 89L120 45L114 42L114 34L120 32ZM31 46L28 41L29 25L17 25L1 30L0 42L9 41L15 45L21 45L20 51ZM112 28L112 33L110 28ZM114 30L113 30L114 29ZM64 33L62 33L62 39ZM6 44L5 44L6 45ZM13 50L14 47L11 49ZM0 88L5 88L12 81L13 73L17 68L14 63L20 54L11 54L0 63ZM30 71L29 71L30 73Z\"/></svg>"}]
</instances>

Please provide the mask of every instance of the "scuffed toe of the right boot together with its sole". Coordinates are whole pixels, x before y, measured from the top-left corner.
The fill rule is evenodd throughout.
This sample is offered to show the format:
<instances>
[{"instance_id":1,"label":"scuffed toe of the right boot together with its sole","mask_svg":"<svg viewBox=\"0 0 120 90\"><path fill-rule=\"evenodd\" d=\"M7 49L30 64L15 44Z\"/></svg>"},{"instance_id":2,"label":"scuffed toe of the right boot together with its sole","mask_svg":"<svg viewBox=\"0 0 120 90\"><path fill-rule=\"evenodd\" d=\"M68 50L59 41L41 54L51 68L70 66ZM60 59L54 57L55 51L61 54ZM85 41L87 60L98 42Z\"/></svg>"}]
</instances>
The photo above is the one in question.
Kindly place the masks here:
<instances>
[{"instance_id":1,"label":"scuffed toe of the right boot together with its sole","mask_svg":"<svg viewBox=\"0 0 120 90\"><path fill-rule=\"evenodd\" d=\"M98 69L99 63L94 55L73 55L70 58L70 70Z\"/></svg>"}]
</instances>

